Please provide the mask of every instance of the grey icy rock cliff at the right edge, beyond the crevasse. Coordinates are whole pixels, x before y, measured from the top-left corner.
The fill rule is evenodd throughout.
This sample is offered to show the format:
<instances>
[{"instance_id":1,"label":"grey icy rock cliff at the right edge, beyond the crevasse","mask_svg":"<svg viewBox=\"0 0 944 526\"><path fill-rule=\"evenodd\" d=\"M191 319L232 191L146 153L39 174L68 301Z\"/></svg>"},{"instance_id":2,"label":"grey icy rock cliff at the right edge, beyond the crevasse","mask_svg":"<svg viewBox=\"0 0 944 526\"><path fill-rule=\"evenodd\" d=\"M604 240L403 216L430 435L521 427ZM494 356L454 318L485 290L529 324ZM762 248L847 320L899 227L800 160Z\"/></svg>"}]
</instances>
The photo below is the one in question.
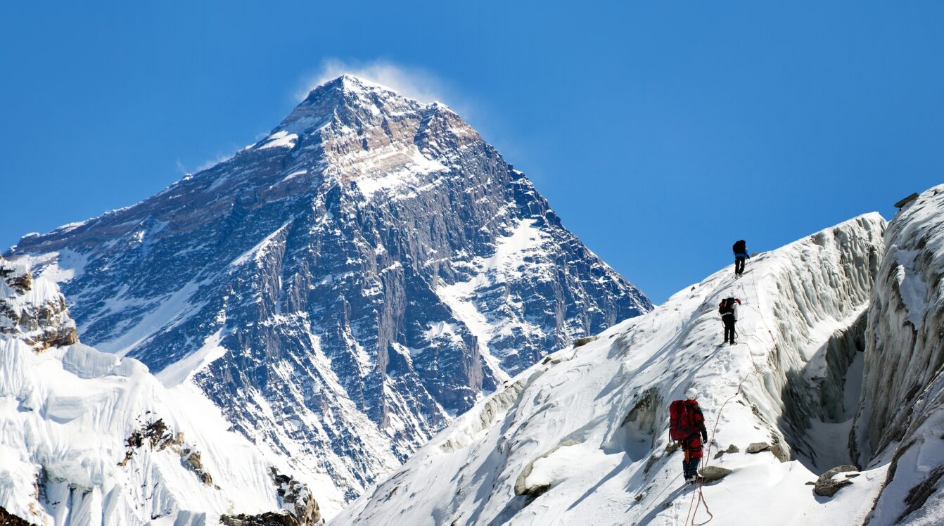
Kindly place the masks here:
<instances>
[{"instance_id":1,"label":"grey icy rock cliff at the right edge, beyond the crevasse","mask_svg":"<svg viewBox=\"0 0 944 526\"><path fill-rule=\"evenodd\" d=\"M891 462L869 525L944 520L944 185L898 212L868 314L853 444Z\"/></svg>"}]
</instances>

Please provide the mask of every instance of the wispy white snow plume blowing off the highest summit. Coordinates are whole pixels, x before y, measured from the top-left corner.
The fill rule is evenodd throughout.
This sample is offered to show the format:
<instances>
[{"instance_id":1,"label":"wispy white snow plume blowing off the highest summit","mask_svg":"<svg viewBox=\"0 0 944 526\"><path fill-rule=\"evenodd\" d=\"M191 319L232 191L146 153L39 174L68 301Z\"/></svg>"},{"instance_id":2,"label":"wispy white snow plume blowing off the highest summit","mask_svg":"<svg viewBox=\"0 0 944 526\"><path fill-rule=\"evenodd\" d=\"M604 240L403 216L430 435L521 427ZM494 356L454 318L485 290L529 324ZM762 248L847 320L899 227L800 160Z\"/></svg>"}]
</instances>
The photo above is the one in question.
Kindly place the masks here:
<instances>
[{"instance_id":1,"label":"wispy white snow plume blowing off the highest summit","mask_svg":"<svg viewBox=\"0 0 944 526\"><path fill-rule=\"evenodd\" d=\"M370 80L426 104L449 104L452 98L448 95L443 81L422 68L403 66L387 60L362 62L342 59L325 59L321 63L321 70L305 83L305 90L298 93L297 98L305 98L314 88L342 75Z\"/></svg>"}]
</instances>

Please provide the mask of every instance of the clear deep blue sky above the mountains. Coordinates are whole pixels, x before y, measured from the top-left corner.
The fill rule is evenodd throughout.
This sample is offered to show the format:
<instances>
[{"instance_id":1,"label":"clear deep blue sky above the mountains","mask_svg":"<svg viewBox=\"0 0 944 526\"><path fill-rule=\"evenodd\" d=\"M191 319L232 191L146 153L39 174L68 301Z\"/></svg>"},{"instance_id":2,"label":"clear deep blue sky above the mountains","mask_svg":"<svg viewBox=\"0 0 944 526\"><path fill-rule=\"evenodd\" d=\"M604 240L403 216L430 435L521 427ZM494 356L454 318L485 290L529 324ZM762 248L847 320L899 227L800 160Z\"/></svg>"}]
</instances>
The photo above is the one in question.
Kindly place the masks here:
<instances>
[{"instance_id":1,"label":"clear deep blue sky above the mountains","mask_svg":"<svg viewBox=\"0 0 944 526\"><path fill-rule=\"evenodd\" d=\"M944 173L941 2L48 4L0 14L4 248L230 155L339 67L459 110L657 302Z\"/></svg>"}]
</instances>

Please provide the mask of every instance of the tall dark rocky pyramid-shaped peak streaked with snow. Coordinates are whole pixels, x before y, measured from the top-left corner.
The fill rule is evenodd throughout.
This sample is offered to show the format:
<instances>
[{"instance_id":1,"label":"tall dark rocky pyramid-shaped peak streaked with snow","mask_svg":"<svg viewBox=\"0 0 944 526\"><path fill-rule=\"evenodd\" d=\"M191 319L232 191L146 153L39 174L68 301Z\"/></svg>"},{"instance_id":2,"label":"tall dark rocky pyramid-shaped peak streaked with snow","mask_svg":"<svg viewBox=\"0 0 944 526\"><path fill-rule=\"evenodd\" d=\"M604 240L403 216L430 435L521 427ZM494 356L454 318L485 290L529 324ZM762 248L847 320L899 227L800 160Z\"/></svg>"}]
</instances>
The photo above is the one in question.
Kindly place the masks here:
<instances>
[{"instance_id":1,"label":"tall dark rocky pyramid-shaped peak streaked with snow","mask_svg":"<svg viewBox=\"0 0 944 526\"><path fill-rule=\"evenodd\" d=\"M8 257L60 283L83 341L314 473L328 513L508 375L651 308L458 115L351 76Z\"/></svg>"}]
</instances>

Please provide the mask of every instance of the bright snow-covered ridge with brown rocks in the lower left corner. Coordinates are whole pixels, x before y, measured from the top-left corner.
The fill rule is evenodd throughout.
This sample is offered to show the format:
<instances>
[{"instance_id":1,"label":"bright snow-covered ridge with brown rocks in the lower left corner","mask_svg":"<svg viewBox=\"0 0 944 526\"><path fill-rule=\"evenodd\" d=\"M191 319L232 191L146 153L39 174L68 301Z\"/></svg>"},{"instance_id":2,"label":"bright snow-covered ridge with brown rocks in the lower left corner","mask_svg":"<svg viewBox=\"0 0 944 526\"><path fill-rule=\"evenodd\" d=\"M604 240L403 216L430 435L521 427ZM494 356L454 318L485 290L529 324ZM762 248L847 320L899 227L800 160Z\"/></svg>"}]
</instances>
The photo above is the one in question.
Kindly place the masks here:
<instances>
[{"instance_id":1,"label":"bright snow-covered ridge with brown rocks in the lower left corner","mask_svg":"<svg viewBox=\"0 0 944 526\"><path fill-rule=\"evenodd\" d=\"M0 524L322 522L194 385L77 343L58 287L2 258L0 356Z\"/></svg>"}]
</instances>

